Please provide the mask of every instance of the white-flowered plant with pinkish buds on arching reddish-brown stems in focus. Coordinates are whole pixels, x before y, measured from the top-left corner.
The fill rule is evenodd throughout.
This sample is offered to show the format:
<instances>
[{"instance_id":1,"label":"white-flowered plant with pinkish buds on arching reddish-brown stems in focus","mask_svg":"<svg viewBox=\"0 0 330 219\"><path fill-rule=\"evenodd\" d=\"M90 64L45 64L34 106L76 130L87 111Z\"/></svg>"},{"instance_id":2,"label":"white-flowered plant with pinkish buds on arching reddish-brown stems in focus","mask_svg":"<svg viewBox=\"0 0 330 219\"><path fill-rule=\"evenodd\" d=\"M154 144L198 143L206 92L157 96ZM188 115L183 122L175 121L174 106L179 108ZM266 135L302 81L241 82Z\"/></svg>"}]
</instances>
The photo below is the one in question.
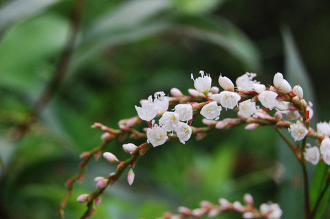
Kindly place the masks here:
<instances>
[{"instance_id":1,"label":"white-flowered plant with pinkish buds on arching reddish-brown stems in focus","mask_svg":"<svg viewBox=\"0 0 330 219\"><path fill-rule=\"evenodd\" d=\"M212 78L208 74L204 71L199 73L201 76L195 79L191 74L195 89L188 90L190 95L184 95L177 88L170 90L170 96L163 91L157 91L146 100L141 100L141 106L135 106L137 116L120 120L119 128L110 128L100 123L92 126L104 132L101 137L102 143L100 147L80 155L82 159L80 172L67 181L69 191L58 207L62 218L64 218L63 208L72 195L74 183L83 181L87 164L92 157L98 159L103 154L103 158L109 163L117 163L117 169L109 176L96 176L94 179L96 190L78 196L78 203L87 203L87 209L81 218L90 218L91 214L96 213L96 206L101 202L104 189L118 181L126 169L129 169L127 182L129 185L133 184L135 177L133 168L148 150L162 146L166 141L179 140L185 144L192 135L196 135L197 139L203 139L214 130L226 130L239 125L245 125L245 130L272 126L283 138L303 170L305 205L302 209L305 209L305 218L316 218L316 211L330 183L328 179L318 194L316 203L310 205L306 163L316 165L324 162L330 165L330 124L320 122L316 130L310 127L313 110L311 104L307 104L303 98L303 89L299 85L292 89L282 73L275 74L272 86L265 86L256 81L254 79L256 73L245 73L237 78L236 87L230 78L220 75L218 82L223 89L221 91L219 87L212 87ZM233 109L237 109L237 117L224 118L221 115L221 111ZM205 126L192 126L193 119L197 116L203 117L202 122ZM146 127L143 130L135 129L135 126L141 123L146 123ZM285 137L281 129L290 132L292 139ZM127 139L126 136L129 138ZM309 145L307 137L316 139L316 145ZM120 161L111 152L105 152L107 145L113 139L124 142L122 149L129 154L125 161ZM136 146L132 142L136 139L145 139L145 141ZM252 196L245 194L243 203L239 201L230 203L225 198L220 198L217 204L202 201L196 209L179 207L177 214L166 212L160 218L214 217L225 211L237 212L243 218L278 219L283 215L280 205L263 203L260 207L254 207Z\"/></svg>"}]
</instances>

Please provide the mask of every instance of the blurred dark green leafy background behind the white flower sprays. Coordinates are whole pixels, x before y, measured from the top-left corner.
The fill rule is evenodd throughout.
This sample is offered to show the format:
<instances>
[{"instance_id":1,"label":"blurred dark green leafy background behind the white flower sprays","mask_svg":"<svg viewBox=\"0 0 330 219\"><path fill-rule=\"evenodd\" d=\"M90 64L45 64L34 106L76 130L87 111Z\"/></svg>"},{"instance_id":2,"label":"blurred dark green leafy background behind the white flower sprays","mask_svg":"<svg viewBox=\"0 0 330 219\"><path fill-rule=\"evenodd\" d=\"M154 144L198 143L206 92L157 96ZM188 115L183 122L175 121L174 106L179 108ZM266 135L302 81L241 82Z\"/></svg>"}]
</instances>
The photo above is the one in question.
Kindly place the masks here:
<instances>
[{"instance_id":1,"label":"blurred dark green leafy background behind the white flower sprays","mask_svg":"<svg viewBox=\"0 0 330 219\"><path fill-rule=\"evenodd\" d=\"M210 73L214 85L221 72L232 79L257 72L258 80L271 84L274 73L285 70L289 82L302 85L310 100L319 103L318 117L329 120L324 86L330 79L329 1L87 0L65 80L30 132L14 141L14 127L30 116L56 69L74 3L0 0L0 154L5 165L0 218L58 218L63 183L78 171L78 154L100 143L102 132L91 124L117 126L155 91L177 87L187 93L190 73L201 69ZM282 36L285 25L292 34ZM311 79L296 80L308 77L306 69ZM304 82L317 88L317 100ZM201 119L194 124L202 126ZM279 142L270 127L250 132L239 127L215 130L185 146L166 143L139 161L133 186L123 176L107 189L93 218L156 218L179 205L197 207L203 199L241 200L245 192L257 205L274 200L288 207L283 218L300 218L298 204L289 211L299 199L287 178L296 161L291 152L278 149ZM124 159L121 145L115 141L109 150ZM114 168L102 159L91 162L66 207L66 218L83 213L85 205L75 199L95 188L94 176L106 176Z\"/></svg>"}]
</instances>

